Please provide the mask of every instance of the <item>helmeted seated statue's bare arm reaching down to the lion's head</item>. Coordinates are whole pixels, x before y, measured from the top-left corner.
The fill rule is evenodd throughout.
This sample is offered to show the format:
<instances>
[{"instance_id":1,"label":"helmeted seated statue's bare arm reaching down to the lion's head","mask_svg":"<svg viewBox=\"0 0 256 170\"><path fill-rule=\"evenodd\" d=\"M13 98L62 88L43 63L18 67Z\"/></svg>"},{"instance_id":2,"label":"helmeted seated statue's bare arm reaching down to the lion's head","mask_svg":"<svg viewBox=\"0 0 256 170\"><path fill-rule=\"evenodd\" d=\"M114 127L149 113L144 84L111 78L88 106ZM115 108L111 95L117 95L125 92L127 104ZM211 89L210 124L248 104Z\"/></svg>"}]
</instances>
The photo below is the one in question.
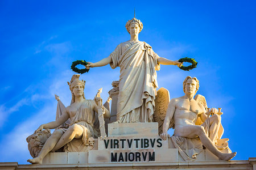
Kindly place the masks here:
<instances>
[{"instance_id":1,"label":"helmeted seated statue's bare arm reaching down to the lion's head","mask_svg":"<svg viewBox=\"0 0 256 170\"><path fill-rule=\"evenodd\" d=\"M48 124L42 124L39 126L39 128L36 131L42 131L43 129L55 129L58 126L60 126L61 124L63 124L69 118L67 109L59 118L57 118L56 121L49 122Z\"/></svg>"}]
</instances>

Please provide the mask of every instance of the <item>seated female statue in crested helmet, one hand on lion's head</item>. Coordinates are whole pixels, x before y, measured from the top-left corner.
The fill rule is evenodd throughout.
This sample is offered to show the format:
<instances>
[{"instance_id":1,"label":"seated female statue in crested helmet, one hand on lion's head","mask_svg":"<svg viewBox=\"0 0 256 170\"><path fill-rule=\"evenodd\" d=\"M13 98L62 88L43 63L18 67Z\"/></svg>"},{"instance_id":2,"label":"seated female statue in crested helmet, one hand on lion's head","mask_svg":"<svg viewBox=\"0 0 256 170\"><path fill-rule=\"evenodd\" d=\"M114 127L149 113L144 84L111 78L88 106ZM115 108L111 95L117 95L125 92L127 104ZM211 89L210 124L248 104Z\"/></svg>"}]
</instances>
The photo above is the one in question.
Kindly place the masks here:
<instances>
[{"instance_id":1,"label":"seated female statue in crested helmet, one hand on lion's head","mask_svg":"<svg viewBox=\"0 0 256 170\"><path fill-rule=\"evenodd\" d=\"M56 129L52 135L47 139L38 157L34 159L28 159L30 163L42 164L44 156L48 152L55 152L59 148L63 147L72 139L82 139L82 143L88 146L89 138L94 136L93 123L94 123L94 111L98 112L98 101L102 102L100 97L96 97L94 100L86 100L84 97L85 81L79 80L78 74L73 75L69 84L69 89L72 92L71 105L65 109L62 115L57 118L56 121L49 122L48 124L40 125L36 131L42 131L43 129L55 129L63 124L70 118L71 123L68 129ZM105 110L104 117L109 118L110 113L108 109L102 107Z\"/></svg>"}]
</instances>

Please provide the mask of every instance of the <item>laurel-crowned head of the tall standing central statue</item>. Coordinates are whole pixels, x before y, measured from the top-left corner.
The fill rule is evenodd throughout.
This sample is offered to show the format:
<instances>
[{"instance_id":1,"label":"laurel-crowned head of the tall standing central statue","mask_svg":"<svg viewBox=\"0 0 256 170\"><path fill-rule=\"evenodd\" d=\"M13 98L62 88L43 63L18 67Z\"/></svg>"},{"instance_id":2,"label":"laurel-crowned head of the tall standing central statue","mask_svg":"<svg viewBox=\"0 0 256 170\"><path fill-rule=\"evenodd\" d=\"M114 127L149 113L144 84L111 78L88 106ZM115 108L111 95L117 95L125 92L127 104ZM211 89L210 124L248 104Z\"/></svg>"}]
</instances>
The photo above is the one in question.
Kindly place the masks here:
<instances>
[{"instance_id":1,"label":"laurel-crowned head of the tall standing central statue","mask_svg":"<svg viewBox=\"0 0 256 170\"><path fill-rule=\"evenodd\" d=\"M143 24L139 19L133 18L126 23L125 28L130 35L138 35L142 31Z\"/></svg>"}]
</instances>

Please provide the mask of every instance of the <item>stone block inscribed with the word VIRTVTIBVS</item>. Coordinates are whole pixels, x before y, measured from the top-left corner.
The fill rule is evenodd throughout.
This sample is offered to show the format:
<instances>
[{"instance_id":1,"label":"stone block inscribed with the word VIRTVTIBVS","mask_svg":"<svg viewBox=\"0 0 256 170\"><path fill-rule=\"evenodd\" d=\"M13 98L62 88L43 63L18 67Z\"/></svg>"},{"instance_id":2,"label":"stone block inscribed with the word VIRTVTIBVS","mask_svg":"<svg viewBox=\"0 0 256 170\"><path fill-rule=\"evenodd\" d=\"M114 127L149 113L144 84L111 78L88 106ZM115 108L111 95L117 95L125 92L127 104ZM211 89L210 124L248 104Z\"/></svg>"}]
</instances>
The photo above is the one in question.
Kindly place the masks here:
<instances>
[{"instance_id":1,"label":"stone block inscribed with the word VIRTVTIBVS","mask_svg":"<svg viewBox=\"0 0 256 170\"><path fill-rule=\"evenodd\" d=\"M168 148L168 140L164 141L159 135L150 137L107 137L98 138L98 150L135 150L147 148Z\"/></svg>"}]
</instances>

